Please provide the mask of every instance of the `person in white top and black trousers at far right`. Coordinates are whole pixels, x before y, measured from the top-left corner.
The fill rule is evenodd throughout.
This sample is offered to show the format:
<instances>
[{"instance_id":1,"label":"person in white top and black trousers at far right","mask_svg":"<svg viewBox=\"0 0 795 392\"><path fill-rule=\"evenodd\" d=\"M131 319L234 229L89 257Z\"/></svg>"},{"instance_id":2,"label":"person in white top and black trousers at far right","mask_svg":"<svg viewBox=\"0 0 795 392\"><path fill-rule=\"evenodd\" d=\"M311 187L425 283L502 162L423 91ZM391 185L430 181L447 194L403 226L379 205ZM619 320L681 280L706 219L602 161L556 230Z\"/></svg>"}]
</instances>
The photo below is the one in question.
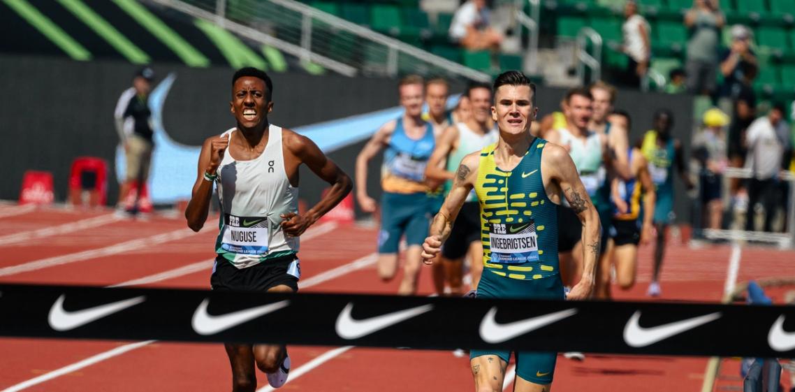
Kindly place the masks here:
<instances>
[{"instance_id":1,"label":"person in white top and black trousers at far right","mask_svg":"<svg viewBox=\"0 0 795 392\"><path fill-rule=\"evenodd\" d=\"M748 127L746 167L751 171L751 178L748 184L746 230L754 230L755 206L762 202L765 209L764 231L773 231L773 217L781 203L779 173L789 162L792 149L784 113L784 105L776 103L766 116L757 118Z\"/></svg>"}]
</instances>

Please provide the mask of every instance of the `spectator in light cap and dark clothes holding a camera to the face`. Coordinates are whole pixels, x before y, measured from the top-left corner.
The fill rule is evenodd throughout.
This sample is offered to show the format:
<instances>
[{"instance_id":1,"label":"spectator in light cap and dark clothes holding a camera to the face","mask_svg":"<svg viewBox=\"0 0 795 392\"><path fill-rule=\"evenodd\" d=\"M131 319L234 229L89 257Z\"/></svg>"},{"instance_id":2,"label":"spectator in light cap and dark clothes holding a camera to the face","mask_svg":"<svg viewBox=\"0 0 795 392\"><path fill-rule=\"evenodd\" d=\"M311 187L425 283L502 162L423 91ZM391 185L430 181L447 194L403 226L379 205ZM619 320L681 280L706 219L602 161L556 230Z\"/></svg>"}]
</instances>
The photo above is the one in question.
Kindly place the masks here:
<instances>
[{"instance_id":1,"label":"spectator in light cap and dark clothes holding a camera to the face","mask_svg":"<svg viewBox=\"0 0 795 392\"><path fill-rule=\"evenodd\" d=\"M750 30L744 25L734 25L731 28L731 48L725 49L720 56L723 85L719 95L735 99L743 89L743 84L750 85L753 82L757 71L758 61L750 49Z\"/></svg>"}]
</instances>

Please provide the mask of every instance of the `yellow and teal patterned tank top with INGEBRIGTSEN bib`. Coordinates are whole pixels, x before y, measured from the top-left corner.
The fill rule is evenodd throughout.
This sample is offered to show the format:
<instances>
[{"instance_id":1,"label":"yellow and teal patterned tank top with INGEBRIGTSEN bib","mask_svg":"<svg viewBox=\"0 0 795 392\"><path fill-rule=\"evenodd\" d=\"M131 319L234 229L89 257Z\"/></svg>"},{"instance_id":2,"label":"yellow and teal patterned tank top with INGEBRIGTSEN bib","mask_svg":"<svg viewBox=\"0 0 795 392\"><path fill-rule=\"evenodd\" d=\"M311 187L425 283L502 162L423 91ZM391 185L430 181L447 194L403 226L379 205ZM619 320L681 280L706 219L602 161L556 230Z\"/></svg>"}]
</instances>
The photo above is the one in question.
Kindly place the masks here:
<instances>
[{"instance_id":1,"label":"yellow and teal patterned tank top with INGEBRIGTSEN bib","mask_svg":"<svg viewBox=\"0 0 795 392\"><path fill-rule=\"evenodd\" d=\"M557 205L541 178L546 141L535 138L511 171L494 162L497 144L480 152L475 193L480 203L483 274L532 280L558 274Z\"/></svg>"}]
</instances>

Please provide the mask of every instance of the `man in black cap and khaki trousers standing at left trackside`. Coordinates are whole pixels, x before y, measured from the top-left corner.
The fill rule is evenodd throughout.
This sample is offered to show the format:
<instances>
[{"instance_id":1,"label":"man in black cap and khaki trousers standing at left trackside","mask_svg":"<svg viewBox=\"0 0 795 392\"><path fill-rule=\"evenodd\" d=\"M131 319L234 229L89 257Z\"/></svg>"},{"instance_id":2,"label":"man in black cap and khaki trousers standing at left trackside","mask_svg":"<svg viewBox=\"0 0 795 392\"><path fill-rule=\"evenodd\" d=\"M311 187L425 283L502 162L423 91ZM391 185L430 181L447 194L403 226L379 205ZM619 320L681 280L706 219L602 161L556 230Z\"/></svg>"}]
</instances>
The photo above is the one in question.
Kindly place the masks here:
<instances>
[{"instance_id":1,"label":"man in black cap and khaki trousers standing at left trackside","mask_svg":"<svg viewBox=\"0 0 795 392\"><path fill-rule=\"evenodd\" d=\"M124 146L126 156L126 176L118 192L117 208L124 208L123 200L130 192L132 184L137 184L138 191L149 177L149 163L152 159L152 112L149 111L149 91L152 88L154 71L145 67L138 70L133 78L133 87L122 92L118 98L114 118L116 132ZM138 211L138 198L127 212Z\"/></svg>"}]
</instances>

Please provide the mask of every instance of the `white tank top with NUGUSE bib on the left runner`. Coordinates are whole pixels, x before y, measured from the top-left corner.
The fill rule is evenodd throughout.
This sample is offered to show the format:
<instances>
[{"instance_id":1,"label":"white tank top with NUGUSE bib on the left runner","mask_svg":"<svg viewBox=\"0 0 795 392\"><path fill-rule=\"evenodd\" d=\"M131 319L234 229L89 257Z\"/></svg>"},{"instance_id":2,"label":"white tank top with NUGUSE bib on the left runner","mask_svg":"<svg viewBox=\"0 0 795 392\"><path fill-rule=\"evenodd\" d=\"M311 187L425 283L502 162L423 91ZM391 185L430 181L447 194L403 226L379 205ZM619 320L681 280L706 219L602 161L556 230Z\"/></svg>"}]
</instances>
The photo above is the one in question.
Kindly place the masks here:
<instances>
[{"instance_id":1,"label":"white tank top with NUGUSE bib on the left runner","mask_svg":"<svg viewBox=\"0 0 795 392\"><path fill-rule=\"evenodd\" d=\"M237 128L222 134L242 138ZM220 232L215 252L238 268L298 252L298 238L285 237L281 214L298 213L298 188L285 172L281 126L268 128L265 151L238 161L227 149L218 167Z\"/></svg>"}]
</instances>

